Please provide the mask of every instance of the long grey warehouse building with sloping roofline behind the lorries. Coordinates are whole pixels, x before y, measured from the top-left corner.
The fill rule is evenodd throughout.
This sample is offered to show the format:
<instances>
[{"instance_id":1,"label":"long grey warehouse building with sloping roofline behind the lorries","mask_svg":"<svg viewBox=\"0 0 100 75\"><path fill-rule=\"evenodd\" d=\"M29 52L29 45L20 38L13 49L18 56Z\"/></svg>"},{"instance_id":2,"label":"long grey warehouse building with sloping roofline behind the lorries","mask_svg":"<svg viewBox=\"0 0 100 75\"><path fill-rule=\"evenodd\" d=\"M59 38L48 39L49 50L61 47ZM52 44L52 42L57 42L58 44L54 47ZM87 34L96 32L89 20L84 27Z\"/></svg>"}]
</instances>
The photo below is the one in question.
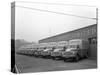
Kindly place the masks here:
<instances>
[{"instance_id":1,"label":"long grey warehouse building with sloping roofline behind the lorries","mask_svg":"<svg viewBox=\"0 0 100 75\"><path fill-rule=\"evenodd\" d=\"M91 59L97 59L97 24L48 37L39 40L39 43L68 41L72 39L88 39L90 46L89 57Z\"/></svg>"}]
</instances>

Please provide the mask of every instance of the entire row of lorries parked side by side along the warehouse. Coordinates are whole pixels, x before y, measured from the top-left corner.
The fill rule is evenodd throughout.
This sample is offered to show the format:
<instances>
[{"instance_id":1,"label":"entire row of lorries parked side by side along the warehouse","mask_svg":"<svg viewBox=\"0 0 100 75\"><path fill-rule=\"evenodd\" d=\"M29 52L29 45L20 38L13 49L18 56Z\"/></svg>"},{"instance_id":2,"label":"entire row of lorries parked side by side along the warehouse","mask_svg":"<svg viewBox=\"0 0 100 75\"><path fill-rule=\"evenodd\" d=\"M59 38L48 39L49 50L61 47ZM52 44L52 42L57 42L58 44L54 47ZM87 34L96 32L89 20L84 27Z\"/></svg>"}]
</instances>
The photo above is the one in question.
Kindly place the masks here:
<instances>
[{"instance_id":1,"label":"entire row of lorries parked side by side along the warehouse","mask_svg":"<svg viewBox=\"0 0 100 75\"><path fill-rule=\"evenodd\" d=\"M64 61L69 59L78 61L81 58L88 57L89 43L88 40L84 39L40 43L22 46L17 53L35 57L63 59Z\"/></svg>"}]
</instances>

